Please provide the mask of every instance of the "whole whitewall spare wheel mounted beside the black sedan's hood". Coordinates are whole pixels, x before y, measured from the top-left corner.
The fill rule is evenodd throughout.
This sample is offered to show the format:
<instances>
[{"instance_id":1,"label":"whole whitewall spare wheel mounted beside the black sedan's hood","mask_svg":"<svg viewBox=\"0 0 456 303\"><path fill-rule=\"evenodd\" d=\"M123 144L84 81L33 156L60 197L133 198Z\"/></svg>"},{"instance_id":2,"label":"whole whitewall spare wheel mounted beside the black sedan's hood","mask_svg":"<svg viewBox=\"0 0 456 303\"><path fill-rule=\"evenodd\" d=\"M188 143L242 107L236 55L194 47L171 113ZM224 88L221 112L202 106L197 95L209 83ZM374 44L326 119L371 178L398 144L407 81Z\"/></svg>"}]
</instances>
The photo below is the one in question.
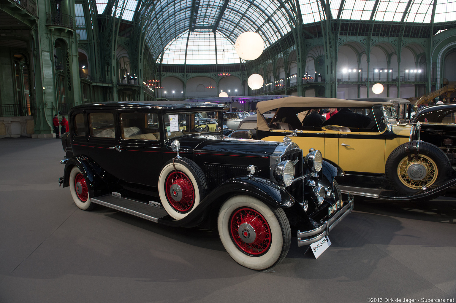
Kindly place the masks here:
<instances>
[{"instance_id":1,"label":"whole whitewall spare wheel mounted beside the black sedan's hood","mask_svg":"<svg viewBox=\"0 0 456 303\"><path fill-rule=\"evenodd\" d=\"M207 181L201 168L187 158L166 162L158 178L161 205L176 220L185 218L206 196Z\"/></svg>"}]
</instances>

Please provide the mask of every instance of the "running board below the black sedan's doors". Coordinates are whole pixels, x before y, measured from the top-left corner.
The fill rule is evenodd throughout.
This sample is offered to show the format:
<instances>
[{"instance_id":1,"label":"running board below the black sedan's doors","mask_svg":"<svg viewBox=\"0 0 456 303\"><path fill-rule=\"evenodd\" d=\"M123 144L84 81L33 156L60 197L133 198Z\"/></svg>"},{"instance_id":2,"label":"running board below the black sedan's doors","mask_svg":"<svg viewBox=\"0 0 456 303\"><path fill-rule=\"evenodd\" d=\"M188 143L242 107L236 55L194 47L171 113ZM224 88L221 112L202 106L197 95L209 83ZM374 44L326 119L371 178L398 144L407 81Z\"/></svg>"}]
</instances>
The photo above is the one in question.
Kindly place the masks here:
<instances>
[{"instance_id":1,"label":"running board below the black sedan's doors","mask_svg":"<svg viewBox=\"0 0 456 303\"><path fill-rule=\"evenodd\" d=\"M131 214L156 223L158 223L158 219L168 215L168 213L163 208L152 206L161 205L155 201L150 201L149 204L146 204L144 202L115 197L113 195L102 195L96 198L91 198L90 202L104 205L117 211L123 211L127 214Z\"/></svg>"}]
</instances>

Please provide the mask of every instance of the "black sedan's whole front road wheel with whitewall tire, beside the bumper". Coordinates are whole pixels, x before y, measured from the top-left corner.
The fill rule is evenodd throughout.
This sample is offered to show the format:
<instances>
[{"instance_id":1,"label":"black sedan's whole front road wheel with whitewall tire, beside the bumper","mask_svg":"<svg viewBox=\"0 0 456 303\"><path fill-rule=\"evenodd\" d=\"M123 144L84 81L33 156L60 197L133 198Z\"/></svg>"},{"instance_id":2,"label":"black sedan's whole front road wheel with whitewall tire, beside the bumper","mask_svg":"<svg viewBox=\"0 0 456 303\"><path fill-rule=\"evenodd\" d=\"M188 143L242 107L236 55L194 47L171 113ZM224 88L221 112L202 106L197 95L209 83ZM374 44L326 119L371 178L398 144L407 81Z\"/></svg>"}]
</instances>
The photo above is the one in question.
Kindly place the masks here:
<instances>
[{"instance_id":1,"label":"black sedan's whole front road wheel with whitewall tire, beside the bumper","mask_svg":"<svg viewBox=\"0 0 456 303\"><path fill-rule=\"evenodd\" d=\"M238 195L223 203L218 233L234 261L255 270L277 265L290 249L291 230L285 212L251 196Z\"/></svg>"}]
</instances>

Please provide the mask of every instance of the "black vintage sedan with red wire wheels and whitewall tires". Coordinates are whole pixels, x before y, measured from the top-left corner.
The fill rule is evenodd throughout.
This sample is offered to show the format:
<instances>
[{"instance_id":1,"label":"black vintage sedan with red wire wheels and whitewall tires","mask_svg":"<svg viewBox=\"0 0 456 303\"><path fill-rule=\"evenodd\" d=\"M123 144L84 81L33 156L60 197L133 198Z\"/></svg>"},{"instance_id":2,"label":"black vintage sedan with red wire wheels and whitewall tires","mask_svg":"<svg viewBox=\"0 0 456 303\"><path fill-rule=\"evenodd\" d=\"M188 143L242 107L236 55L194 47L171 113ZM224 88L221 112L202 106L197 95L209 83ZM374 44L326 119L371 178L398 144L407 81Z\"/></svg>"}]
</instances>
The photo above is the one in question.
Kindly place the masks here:
<instances>
[{"instance_id":1,"label":"black vintage sedan with red wire wheels and whitewall tires","mask_svg":"<svg viewBox=\"0 0 456 303\"><path fill-rule=\"evenodd\" d=\"M92 103L69 113L59 184L82 210L96 204L167 226L218 228L239 264L263 270L326 241L353 209L319 150L228 138L223 105ZM211 121L197 124L195 117Z\"/></svg>"}]
</instances>

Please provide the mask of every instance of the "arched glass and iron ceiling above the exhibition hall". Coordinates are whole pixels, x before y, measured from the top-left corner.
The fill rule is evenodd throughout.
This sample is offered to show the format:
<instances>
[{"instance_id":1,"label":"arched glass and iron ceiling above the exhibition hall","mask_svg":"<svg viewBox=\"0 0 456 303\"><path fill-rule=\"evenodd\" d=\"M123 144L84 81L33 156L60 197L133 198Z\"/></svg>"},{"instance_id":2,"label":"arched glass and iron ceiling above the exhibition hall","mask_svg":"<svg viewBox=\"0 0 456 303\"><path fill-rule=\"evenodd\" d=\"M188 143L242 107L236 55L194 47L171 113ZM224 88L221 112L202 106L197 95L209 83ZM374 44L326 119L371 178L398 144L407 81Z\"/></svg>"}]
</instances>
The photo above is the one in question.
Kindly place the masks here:
<instances>
[{"instance_id":1,"label":"arched glass and iron ceiling above the exhibition hall","mask_svg":"<svg viewBox=\"0 0 456 303\"><path fill-rule=\"evenodd\" d=\"M427 24L456 21L456 0L298 0L297 2L295 0L95 0L95 2L99 14L115 15L123 20L140 24L144 30L144 39L150 55L157 61L160 61L163 56L163 62L181 62L181 59L177 59L181 57L181 54L177 55L181 53L177 49L180 49L183 43L187 43L188 38L187 56L191 55L191 57L187 57L187 64L212 64L209 63L212 62L210 60L215 60L212 55L200 56L205 59L204 62L194 60L193 57L200 51L195 48L209 43L214 34L217 44L223 41L234 45L241 33L254 31L263 37L265 47L269 47L298 24L311 24L325 19ZM297 4L299 6L296 6ZM326 10L327 5L329 10ZM330 15L326 15L326 12ZM209 38L209 33L212 33L212 38ZM195 42L197 38L202 42ZM219 52L218 46L217 52ZM238 62L238 59L230 56L227 53L227 58L230 58L228 61Z\"/></svg>"}]
</instances>

